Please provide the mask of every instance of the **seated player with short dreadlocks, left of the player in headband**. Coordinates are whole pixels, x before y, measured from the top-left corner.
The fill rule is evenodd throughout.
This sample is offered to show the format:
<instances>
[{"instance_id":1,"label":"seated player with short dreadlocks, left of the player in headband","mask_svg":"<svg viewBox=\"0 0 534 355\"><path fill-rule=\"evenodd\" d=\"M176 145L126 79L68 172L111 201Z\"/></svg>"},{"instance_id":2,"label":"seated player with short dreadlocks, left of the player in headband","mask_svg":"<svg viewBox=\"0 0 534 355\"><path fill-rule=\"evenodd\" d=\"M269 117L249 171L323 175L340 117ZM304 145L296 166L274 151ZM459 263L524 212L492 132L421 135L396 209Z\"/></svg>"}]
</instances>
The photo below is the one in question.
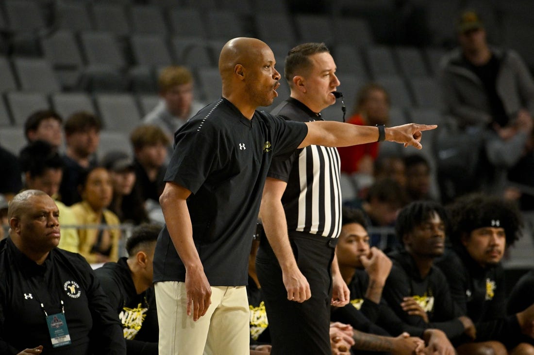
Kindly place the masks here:
<instances>
[{"instance_id":1,"label":"seated player with short dreadlocks, left of the player in headband","mask_svg":"<svg viewBox=\"0 0 534 355\"><path fill-rule=\"evenodd\" d=\"M493 342L464 344L478 340L475 326L454 304L447 279L433 265L445 249L446 221L445 209L432 201L415 201L400 211L395 229L404 248L389 254L393 268L383 296L407 324L443 330L460 354L502 350L501 344ZM406 309L410 298L423 313Z\"/></svg>"}]
</instances>

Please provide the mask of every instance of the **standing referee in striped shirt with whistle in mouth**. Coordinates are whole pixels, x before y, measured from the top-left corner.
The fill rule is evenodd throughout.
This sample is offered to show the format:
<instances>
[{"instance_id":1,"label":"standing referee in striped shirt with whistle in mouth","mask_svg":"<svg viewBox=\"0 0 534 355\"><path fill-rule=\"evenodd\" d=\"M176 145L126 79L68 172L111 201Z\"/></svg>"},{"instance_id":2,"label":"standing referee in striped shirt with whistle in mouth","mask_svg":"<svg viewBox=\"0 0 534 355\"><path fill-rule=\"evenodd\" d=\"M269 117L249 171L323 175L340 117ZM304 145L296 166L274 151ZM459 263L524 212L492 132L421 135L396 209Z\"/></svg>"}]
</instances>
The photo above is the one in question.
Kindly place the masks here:
<instances>
[{"instance_id":1,"label":"standing referee in striped shirt with whistle in mouth","mask_svg":"<svg viewBox=\"0 0 534 355\"><path fill-rule=\"evenodd\" d=\"M324 43L294 47L285 60L290 97L271 114L297 122L323 120L319 112L335 103L340 85L335 71ZM271 164L260 209L267 238L261 240L256 271L272 354L331 353L330 305L349 302L334 253L341 231L339 175L332 147L311 145Z\"/></svg>"}]
</instances>

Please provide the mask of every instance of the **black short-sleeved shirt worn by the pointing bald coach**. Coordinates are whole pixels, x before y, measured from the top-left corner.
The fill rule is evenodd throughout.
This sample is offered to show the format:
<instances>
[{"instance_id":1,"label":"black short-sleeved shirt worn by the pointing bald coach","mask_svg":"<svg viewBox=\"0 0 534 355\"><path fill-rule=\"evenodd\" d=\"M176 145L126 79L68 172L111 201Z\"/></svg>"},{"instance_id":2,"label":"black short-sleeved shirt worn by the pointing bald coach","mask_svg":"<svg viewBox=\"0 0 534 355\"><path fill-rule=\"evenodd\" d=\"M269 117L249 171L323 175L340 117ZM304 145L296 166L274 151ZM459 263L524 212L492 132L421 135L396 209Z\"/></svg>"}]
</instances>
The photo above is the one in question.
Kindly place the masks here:
<instances>
[{"instance_id":1,"label":"black short-sleeved shirt worn by the pointing bald coach","mask_svg":"<svg viewBox=\"0 0 534 355\"><path fill-rule=\"evenodd\" d=\"M211 286L246 285L248 254L263 185L274 156L289 156L308 133L304 123L266 112L247 119L221 98L175 134L165 181L192 192L193 240ZM154 282L185 281L185 267L164 227L156 244Z\"/></svg>"}]
</instances>

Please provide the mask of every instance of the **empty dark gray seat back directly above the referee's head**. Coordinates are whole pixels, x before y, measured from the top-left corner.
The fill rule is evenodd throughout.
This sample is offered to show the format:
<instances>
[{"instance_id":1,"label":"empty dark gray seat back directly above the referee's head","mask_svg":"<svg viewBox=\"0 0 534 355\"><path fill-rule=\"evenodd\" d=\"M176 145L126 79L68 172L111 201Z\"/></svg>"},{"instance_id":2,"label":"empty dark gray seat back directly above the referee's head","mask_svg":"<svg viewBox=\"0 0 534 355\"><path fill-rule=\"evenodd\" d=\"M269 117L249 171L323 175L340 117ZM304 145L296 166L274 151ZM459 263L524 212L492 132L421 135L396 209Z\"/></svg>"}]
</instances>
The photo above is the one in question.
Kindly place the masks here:
<instances>
[{"instance_id":1,"label":"empty dark gray seat back directly above the referee's head","mask_svg":"<svg viewBox=\"0 0 534 355\"><path fill-rule=\"evenodd\" d=\"M326 16L299 14L295 25L301 42L335 42L332 21Z\"/></svg>"}]
</instances>

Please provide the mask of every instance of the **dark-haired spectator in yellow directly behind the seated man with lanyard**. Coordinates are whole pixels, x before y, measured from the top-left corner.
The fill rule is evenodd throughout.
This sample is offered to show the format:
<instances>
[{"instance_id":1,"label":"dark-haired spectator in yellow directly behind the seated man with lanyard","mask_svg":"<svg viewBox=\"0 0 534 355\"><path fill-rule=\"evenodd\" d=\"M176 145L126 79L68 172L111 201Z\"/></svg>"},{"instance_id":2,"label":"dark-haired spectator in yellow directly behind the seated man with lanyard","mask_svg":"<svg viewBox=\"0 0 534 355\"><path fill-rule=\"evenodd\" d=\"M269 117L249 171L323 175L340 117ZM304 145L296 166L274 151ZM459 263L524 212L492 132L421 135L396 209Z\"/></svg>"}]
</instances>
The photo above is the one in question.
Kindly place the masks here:
<instances>
[{"instance_id":1,"label":"dark-haired spectator in yellow directly behind the seated man with lanyard","mask_svg":"<svg viewBox=\"0 0 534 355\"><path fill-rule=\"evenodd\" d=\"M25 178L25 188L46 192L58 206L59 223L64 226L61 227L58 247L78 253L78 232L74 228L78 224L76 215L70 207L56 200L63 175L63 159L51 144L37 140L20 151L19 162Z\"/></svg>"}]
</instances>

